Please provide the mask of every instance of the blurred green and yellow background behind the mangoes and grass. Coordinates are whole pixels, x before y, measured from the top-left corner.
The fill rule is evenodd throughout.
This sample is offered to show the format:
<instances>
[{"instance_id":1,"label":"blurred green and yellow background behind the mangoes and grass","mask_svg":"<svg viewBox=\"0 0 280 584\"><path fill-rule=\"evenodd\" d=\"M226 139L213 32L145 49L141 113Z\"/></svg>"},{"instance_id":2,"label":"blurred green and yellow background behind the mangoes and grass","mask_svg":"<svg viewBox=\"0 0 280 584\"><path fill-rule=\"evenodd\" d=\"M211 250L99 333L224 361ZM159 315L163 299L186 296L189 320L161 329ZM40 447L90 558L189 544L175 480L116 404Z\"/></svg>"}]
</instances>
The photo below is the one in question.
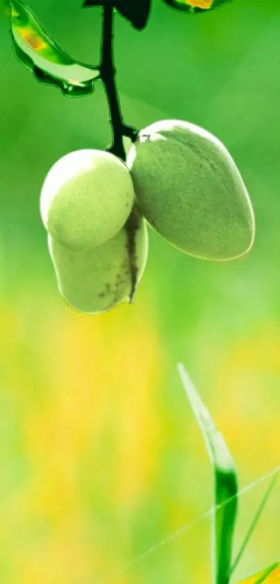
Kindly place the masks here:
<instances>
[{"instance_id":1,"label":"blurred green and yellow background behind the mangoes and grass","mask_svg":"<svg viewBox=\"0 0 280 584\"><path fill-rule=\"evenodd\" d=\"M66 52L98 62L99 8L28 5ZM216 134L247 184L256 242L215 264L151 232L133 306L85 316L58 294L39 194L58 157L106 148L106 99L99 84L76 100L38 84L1 16L1 584L210 581L209 519L138 557L213 502L178 361L229 444L240 488L279 464L279 31L275 0L193 17L154 0L142 33L115 18L126 123L181 118ZM236 549L267 486L240 498ZM278 488L233 581L279 560L279 521Z\"/></svg>"}]
</instances>

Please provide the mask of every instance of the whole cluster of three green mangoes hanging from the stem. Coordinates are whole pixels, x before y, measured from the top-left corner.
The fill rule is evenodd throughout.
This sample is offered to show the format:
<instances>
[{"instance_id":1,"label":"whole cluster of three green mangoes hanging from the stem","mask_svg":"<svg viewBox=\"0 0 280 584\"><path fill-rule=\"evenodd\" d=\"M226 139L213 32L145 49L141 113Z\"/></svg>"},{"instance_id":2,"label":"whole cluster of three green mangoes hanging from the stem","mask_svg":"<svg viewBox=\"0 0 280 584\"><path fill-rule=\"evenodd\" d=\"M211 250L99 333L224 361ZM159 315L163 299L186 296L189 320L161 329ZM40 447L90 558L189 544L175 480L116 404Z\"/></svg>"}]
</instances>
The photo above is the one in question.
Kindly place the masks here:
<instances>
[{"instance_id":1,"label":"whole cluster of three green mangoes hanging from the stem","mask_svg":"<svg viewBox=\"0 0 280 584\"><path fill-rule=\"evenodd\" d=\"M146 221L197 258L231 260L254 242L252 204L231 155L181 120L142 129L126 163L102 150L61 158L40 207L60 293L84 313L131 298L147 262Z\"/></svg>"}]
</instances>

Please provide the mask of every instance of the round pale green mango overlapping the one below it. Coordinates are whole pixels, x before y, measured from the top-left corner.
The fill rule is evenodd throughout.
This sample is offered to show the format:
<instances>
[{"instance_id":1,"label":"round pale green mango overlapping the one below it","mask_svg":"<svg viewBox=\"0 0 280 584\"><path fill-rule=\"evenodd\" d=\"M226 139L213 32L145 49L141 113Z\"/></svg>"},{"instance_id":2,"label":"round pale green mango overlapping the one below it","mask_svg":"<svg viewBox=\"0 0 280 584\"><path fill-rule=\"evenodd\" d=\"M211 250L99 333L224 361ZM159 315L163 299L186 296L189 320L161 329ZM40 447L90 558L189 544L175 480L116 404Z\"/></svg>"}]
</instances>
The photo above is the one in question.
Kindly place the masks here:
<instances>
[{"instance_id":1,"label":"round pale green mango overlapping the one below it","mask_svg":"<svg viewBox=\"0 0 280 584\"><path fill-rule=\"evenodd\" d=\"M51 167L40 212L47 232L74 251L92 249L124 226L133 206L126 165L104 150L75 150Z\"/></svg>"}]
</instances>

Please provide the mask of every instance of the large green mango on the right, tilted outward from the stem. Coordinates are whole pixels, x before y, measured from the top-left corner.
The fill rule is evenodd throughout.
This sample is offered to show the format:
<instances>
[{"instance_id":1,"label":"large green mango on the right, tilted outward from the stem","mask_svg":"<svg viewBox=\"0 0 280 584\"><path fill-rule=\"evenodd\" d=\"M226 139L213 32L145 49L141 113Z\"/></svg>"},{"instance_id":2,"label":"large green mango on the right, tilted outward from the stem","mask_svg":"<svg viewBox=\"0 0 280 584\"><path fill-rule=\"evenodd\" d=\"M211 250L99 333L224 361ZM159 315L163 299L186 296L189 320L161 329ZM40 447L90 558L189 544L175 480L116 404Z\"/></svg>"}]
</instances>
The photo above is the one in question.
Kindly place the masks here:
<instances>
[{"instance_id":1,"label":"large green mango on the right, tilted outward from the stem","mask_svg":"<svg viewBox=\"0 0 280 584\"><path fill-rule=\"evenodd\" d=\"M140 131L126 164L140 212L181 251L231 260L254 242L255 221L245 184L215 136L181 120Z\"/></svg>"}]
</instances>

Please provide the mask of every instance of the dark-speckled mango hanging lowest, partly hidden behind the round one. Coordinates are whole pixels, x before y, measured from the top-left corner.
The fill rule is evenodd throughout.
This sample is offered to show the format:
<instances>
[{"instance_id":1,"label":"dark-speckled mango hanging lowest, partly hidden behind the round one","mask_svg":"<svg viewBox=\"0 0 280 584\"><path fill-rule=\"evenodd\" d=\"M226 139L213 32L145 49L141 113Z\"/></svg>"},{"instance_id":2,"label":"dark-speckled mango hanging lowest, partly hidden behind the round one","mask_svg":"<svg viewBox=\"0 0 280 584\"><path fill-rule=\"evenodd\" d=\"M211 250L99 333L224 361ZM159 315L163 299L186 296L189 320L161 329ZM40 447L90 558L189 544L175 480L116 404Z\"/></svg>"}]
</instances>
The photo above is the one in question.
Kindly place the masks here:
<instances>
[{"instance_id":1,"label":"dark-speckled mango hanging lowest, partly hidden behind the round one","mask_svg":"<svg viewBox=\"0 0 280 584\"><path fill-rule=\"evenodd\" d=\"M135 235L137 284L148 255L147 223L139 219ZM129 299L131 271L128 237L122 228L105 244L87 251L71 251L48 236L49 253L58 289L65 302L81 313L103 313Z\"/></svg>"}]
</instances>

